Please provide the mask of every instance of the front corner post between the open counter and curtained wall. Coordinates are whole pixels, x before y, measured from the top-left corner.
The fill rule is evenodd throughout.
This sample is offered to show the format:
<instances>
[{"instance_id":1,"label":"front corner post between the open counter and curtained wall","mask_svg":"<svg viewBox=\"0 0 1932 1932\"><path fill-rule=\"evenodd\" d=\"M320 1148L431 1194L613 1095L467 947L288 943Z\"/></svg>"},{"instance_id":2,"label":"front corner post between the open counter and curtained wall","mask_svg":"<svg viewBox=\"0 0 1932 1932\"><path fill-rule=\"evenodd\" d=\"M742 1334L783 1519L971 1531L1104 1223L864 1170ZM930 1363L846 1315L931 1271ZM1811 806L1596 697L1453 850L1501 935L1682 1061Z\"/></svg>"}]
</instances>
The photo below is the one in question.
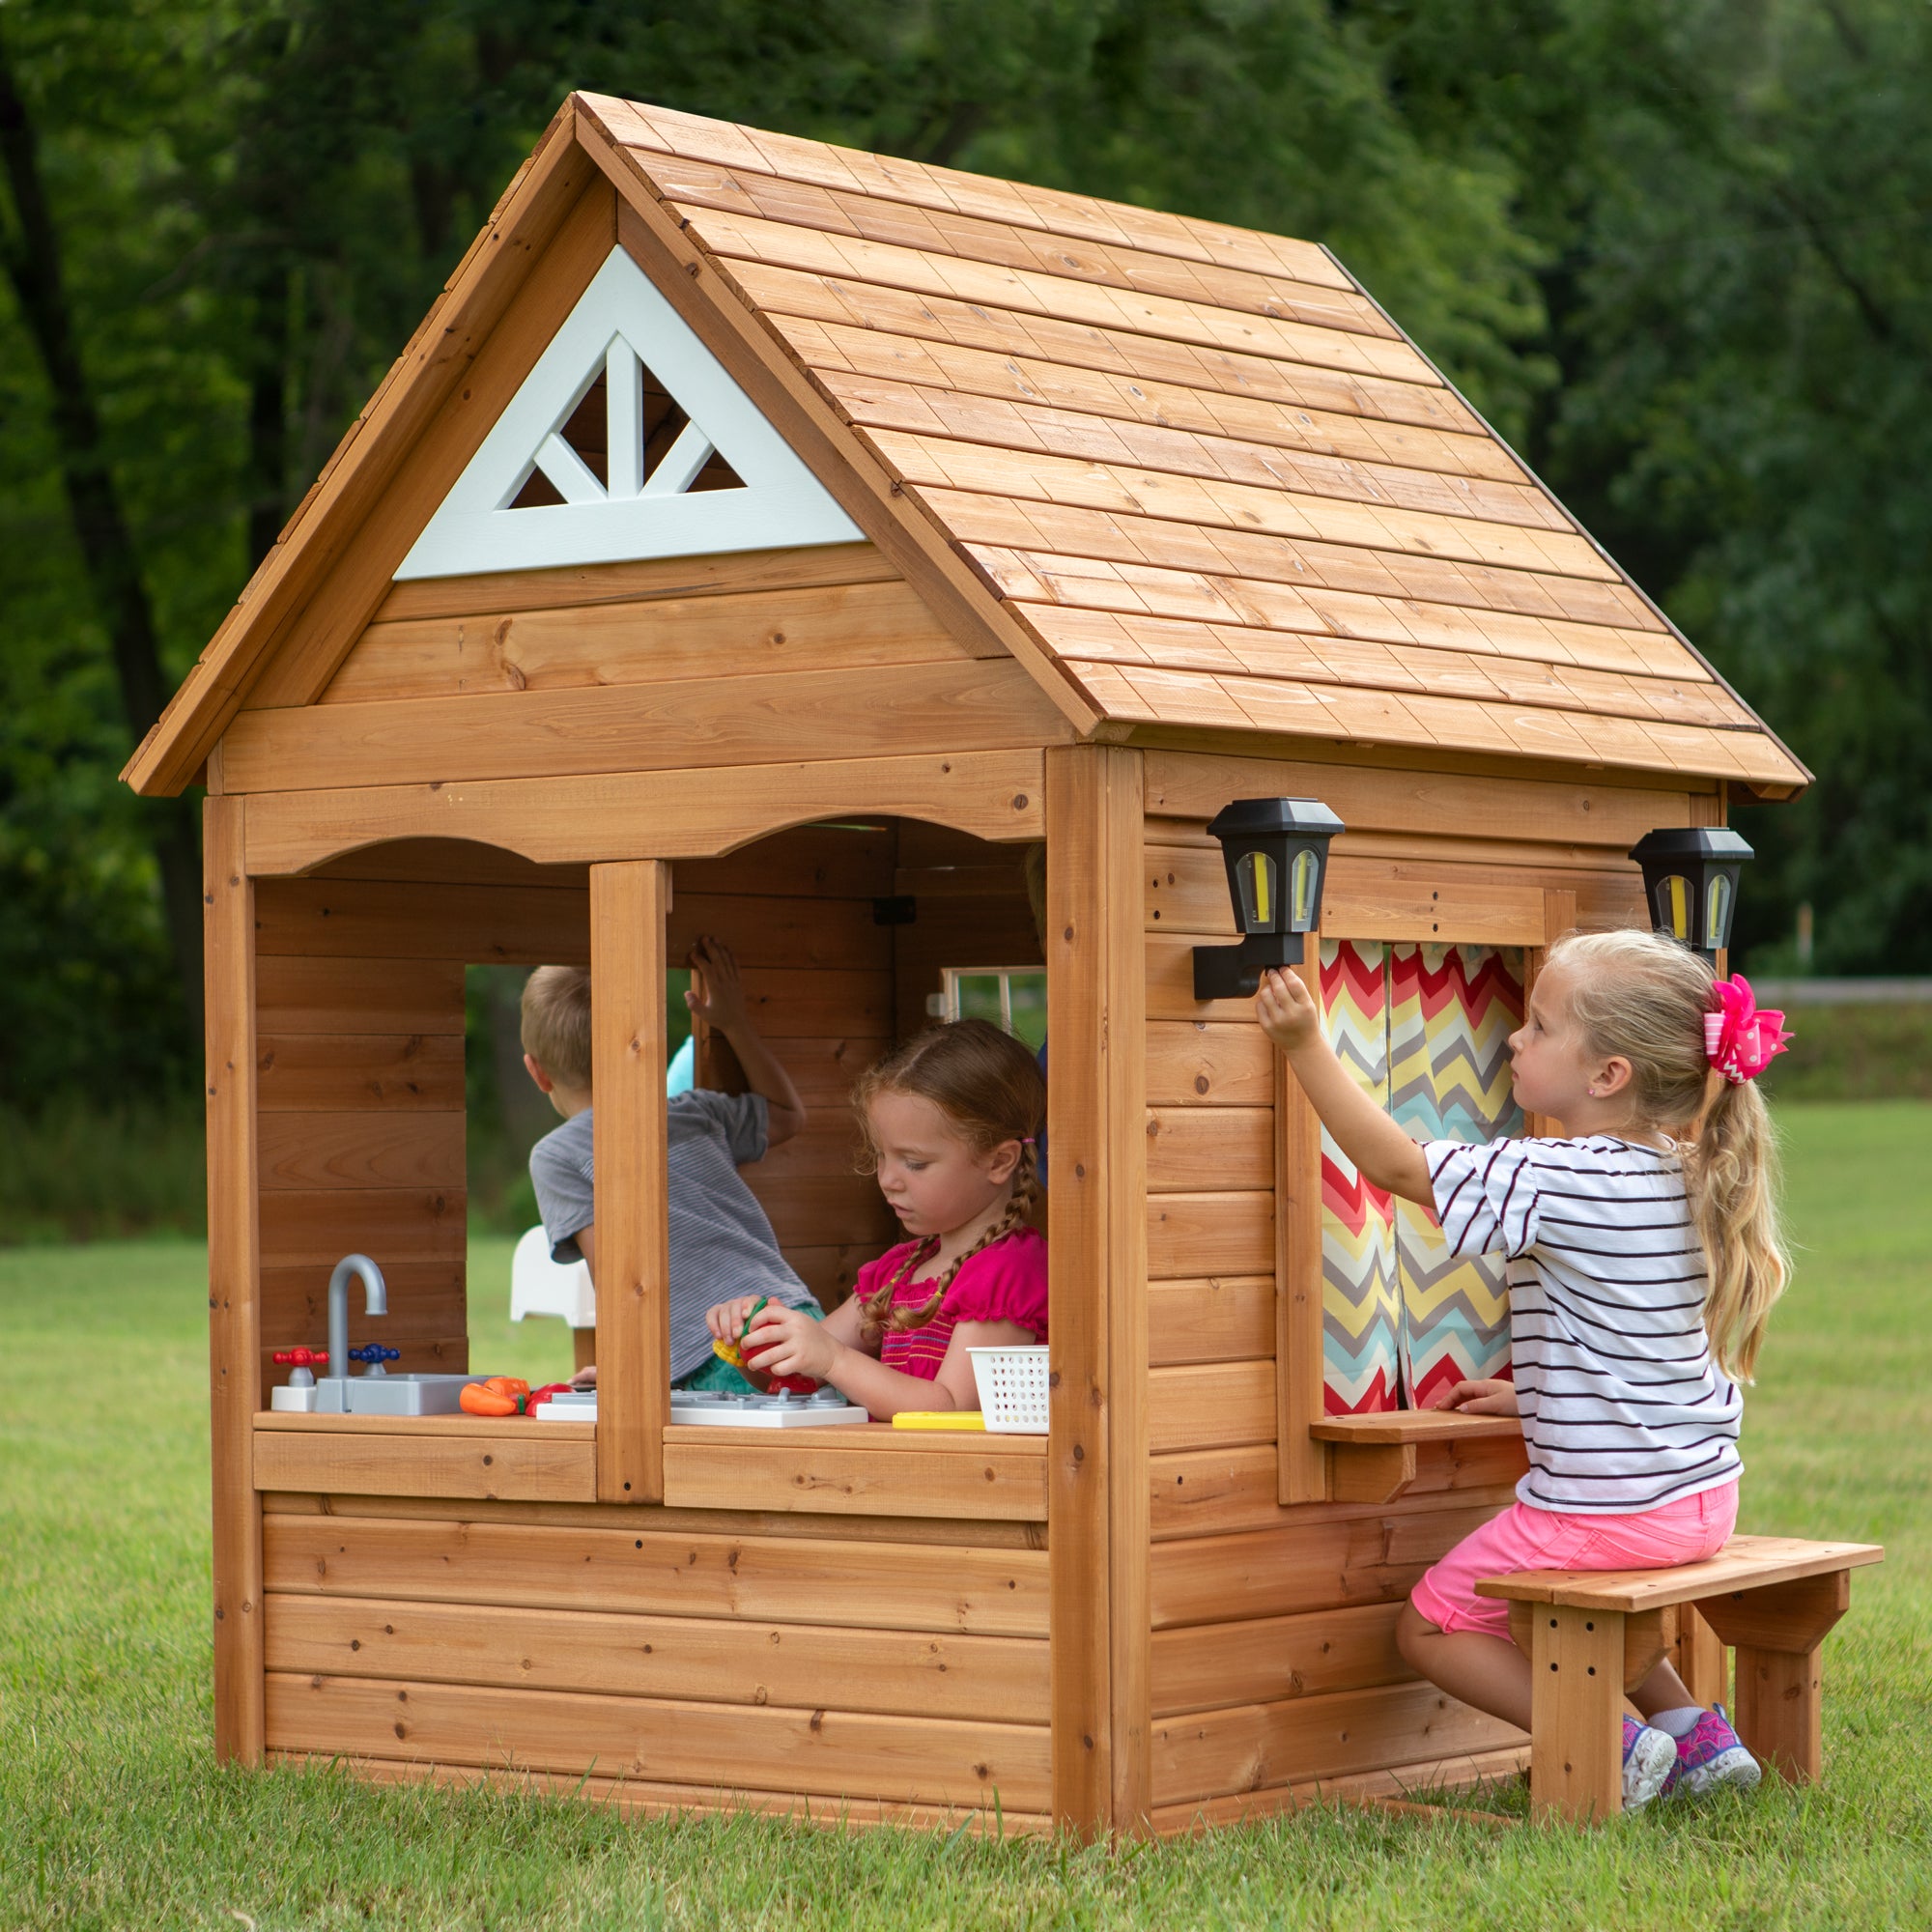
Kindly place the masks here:
<instances>
[{"instance_id":1,"label":"front corner post between the open counter and curtained wall","mask_svg":"<svg viewBox=\"0 0 1932 1932\"><path fill-rule=\"evenodd\" d=\"M1047 752L1053 1814L1153 1804L1142 753Z\"/></svg>"}]
</instances>

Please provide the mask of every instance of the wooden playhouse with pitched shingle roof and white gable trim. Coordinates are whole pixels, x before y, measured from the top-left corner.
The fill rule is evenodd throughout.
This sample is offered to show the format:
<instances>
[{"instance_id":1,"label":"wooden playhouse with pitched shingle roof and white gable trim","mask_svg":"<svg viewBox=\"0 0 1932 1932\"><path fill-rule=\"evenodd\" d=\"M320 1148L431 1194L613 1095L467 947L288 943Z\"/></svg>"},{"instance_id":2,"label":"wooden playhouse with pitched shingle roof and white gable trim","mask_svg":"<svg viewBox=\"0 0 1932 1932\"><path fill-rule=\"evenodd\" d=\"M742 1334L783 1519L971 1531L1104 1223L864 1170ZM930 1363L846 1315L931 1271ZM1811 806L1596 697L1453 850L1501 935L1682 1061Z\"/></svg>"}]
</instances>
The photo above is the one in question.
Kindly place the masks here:
<instances>
[{"instance_id":1,"label":"wooden playhouse with pitched shingle roof and white gable trim","mask_svg":"<svg viewBox=\"0 0 1932 1932\"><path fill-rule=\"evenodd\" d=\"M128 777L209 790L224 1758L1009 1830L1520 1762L1391 1642L1522 1466L1416 1406L1499 1285L1192 997L1206 823L1341 815L1329 1024L1482 1136L1631 844L1804 771L1327 251L574 97ZM667 962L746 962L813 1109L748 1173L831 1296L891 1238L844 1092L1041 968L1039 840L1051 1434L668 1426ZM469 1366L464 966L541 960L593 974L599 1420L270 1414L350 1250L357 1339Z\"/></svg>"}]
</instances>

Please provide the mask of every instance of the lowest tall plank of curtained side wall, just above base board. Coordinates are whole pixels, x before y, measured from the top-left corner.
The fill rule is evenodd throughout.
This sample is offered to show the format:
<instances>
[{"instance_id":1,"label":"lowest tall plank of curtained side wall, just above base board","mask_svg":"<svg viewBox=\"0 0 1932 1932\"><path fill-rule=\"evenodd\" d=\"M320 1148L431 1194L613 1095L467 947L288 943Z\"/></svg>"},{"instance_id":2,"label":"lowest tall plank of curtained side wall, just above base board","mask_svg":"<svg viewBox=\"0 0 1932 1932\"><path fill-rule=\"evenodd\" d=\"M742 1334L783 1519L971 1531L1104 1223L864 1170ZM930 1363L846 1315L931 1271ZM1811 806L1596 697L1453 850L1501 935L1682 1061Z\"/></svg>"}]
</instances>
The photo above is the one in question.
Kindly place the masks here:
<instances>
[{"instance_id":1,"label":"lowest tall plank of curtained side wall, just above base board","mask_svg":"<svg viewBox=\"0 0 1932 1932\"><path fill-rule=\"evenodd\" d=\"M1173 1804L1520 1743L1513 1725L1426 1683L1240 1704L1155 1725L1153 1797Z\"/></svg>"}]
</instances>

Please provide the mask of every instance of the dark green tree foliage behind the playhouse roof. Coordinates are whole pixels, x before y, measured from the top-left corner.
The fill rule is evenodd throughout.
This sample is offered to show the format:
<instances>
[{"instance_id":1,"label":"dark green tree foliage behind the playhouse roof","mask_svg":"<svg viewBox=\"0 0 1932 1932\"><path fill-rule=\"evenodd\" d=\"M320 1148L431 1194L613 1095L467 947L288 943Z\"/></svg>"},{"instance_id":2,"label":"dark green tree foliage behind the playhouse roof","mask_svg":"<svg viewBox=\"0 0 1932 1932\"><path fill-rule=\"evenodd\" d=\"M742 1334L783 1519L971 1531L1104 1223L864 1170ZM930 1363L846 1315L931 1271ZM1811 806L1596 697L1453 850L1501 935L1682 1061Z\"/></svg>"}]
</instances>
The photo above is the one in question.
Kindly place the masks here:
<instances>
[{"instance_id":1,"label":"dark green tree foliage behind the playhouse roof","mask_svg":"<svg viewBox=\"0 0 1932 1932\"><path fill-rule=\"evenodd\" d=\"M1816 769L1750 960L1932 972L1922 0L0 0L0 1105L191 1082L116 773L572 87L1331 243Z\"/></svg>"}]
</instances>

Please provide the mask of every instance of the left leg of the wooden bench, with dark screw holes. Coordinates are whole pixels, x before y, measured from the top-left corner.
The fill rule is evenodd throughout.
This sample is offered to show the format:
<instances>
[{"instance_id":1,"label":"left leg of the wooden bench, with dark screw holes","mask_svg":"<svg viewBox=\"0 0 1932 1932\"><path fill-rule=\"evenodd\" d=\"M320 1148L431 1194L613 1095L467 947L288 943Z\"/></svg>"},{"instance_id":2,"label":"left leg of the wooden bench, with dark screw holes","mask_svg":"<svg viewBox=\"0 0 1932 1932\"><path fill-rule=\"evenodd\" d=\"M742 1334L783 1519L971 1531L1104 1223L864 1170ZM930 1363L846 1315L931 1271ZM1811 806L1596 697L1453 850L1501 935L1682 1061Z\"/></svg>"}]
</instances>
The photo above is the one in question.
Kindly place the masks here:
<instances>
[{"instance_id":1,"label":"left leg of the wooden bench, with dark screw holes","mask_svg":"<svg viewBox=\"0 0 1932 1932\"><path fill-rule=\"evenodd\" d=\"M1530 1816L1586 1824L1623 1810L1623 1615L1534 1605Z\"/></svg>"}]
</instances>

